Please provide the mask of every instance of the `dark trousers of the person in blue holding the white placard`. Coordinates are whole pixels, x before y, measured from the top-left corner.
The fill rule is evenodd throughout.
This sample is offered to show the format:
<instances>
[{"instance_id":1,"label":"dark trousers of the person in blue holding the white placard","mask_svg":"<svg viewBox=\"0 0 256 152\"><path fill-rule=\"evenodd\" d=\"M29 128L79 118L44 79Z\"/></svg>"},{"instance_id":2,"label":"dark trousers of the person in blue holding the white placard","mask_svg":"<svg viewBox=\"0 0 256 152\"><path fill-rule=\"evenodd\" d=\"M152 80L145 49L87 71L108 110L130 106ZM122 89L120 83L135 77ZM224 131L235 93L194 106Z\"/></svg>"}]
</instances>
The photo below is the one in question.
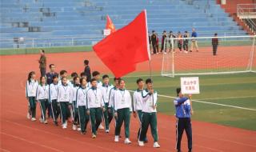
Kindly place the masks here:
<instances>
[{"instance_id":1,"label":"dark trousers of the person in blue holding the white placard","mask_svg":"<svg viewBox=\"0 0 256 152\"><path fill-rule=\"evenodd\" d=\"M176 149L181 150L182 134L186 131L188 149L192 150L192 127L190 118L177 118L176 123Z\"/></svg>"}]
</instances>

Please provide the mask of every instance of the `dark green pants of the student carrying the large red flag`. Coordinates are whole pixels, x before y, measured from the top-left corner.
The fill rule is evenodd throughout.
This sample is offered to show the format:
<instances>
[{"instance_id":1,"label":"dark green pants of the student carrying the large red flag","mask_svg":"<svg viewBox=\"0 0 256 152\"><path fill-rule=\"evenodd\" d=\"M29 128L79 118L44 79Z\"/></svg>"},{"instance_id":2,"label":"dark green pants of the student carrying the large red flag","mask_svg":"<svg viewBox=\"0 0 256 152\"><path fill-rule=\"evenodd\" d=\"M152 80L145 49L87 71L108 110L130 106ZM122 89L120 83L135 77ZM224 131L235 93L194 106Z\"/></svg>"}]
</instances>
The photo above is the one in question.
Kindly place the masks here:
<instances>
[{"instance_id":1,"label":"dark green pants of the student carrying the large red flag","mask_svg":"<svg viewBox=\"0 0 256 152\"><path fill-rule=\"evenodd\" d=\"M142 112L142 130L139 136L139 141L144 141L146 138L146 132L150 126L151 134L154 138L154 142L158 142L158 123L157 114Z\"/></svg>"}]
</instances>

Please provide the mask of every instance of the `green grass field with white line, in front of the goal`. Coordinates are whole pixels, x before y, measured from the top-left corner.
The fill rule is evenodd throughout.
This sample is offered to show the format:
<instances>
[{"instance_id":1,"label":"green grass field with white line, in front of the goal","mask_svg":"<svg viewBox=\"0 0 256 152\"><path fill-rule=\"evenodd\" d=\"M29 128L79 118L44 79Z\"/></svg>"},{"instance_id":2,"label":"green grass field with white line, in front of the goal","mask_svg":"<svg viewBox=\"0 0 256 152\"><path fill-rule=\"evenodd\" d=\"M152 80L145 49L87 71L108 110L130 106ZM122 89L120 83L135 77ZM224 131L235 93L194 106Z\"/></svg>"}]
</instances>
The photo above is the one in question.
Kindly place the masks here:
<instances>
[{"instance_id":1,"label":"green grass field with white line, in front of the goal","mask_svg":"<svg viewBox=\"0 0 256 152\"><path fill-rule=\"evenodd\" d=\"M130 74L130 76L142 74ZM126 77L126 88L136 89L138 77ZM141 76L141 78L148 78ZM174 97L175 89L180 86L180 77L166 78L153 76L154 90L158 94ZM193 119L213 122L225 126L234 126L246 130L256 130L256 74L224 74L199 76L200 94L194 94ZM212 105L210 103L228 106ZM239 106L239 109L229 106ZM158 112L174 115L173 98L159 97Z\"/></svg>"}]
</instances>

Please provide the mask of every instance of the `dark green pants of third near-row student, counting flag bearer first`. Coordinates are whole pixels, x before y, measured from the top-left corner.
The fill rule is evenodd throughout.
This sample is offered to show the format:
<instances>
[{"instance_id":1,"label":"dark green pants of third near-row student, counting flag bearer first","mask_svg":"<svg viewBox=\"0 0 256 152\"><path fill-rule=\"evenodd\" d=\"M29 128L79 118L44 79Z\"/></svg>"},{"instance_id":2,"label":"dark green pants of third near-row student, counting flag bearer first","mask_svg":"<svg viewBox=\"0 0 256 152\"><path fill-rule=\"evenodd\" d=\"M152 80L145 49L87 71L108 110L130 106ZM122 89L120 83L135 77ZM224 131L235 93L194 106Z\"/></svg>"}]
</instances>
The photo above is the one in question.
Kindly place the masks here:
<instances>
[{"instance_id":1,"label":"dark green pants of third near-row student, counting flag bearer first","mask_svg":"<svg viewBox=\"0 0 256 152\"><path fill-rule=\"evenodd\" d=\"M90 108L90 123L93 134L97 134L98 126L102 122L102 108Z\"/></svg>"}]
</instances>

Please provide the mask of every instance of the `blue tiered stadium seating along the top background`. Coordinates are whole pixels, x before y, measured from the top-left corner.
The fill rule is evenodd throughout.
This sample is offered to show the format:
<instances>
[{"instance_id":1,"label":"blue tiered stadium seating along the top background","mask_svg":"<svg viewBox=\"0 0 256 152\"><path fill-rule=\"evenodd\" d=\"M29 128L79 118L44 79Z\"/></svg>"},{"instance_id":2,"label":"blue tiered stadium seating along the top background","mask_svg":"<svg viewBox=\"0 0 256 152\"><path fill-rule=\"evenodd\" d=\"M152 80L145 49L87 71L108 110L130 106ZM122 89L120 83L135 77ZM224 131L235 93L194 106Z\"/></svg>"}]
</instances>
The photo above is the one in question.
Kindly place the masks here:
<instances>
[{"instance_id":1,"label":"blue tiered stadium seating along the top background","mask_svg":"<svg viewBox=\"0 0 256 152\"><path fill-rule=\"evenodd\" d=\"M92 45L106 14L118 29L143 9L158 34L192 27L199 36L247 34L215 0L1 0L1 48Z\"/></svg>"}]
</instances>

